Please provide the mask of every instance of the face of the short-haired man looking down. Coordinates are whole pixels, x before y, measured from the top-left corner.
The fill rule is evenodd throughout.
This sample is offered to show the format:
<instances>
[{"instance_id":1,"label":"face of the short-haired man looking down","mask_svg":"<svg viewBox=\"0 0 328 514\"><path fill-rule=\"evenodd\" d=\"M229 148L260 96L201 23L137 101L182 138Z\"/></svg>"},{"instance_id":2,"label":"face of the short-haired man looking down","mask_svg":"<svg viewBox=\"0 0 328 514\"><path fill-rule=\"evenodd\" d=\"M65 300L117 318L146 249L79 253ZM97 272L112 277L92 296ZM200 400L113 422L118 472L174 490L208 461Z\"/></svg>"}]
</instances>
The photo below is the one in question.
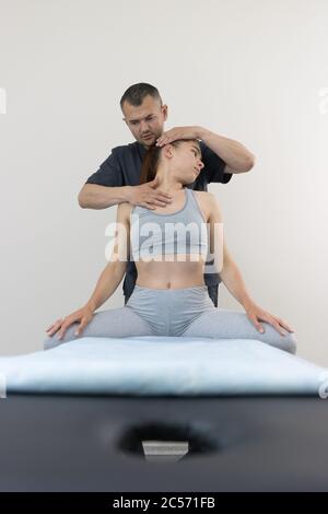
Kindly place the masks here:
<instances>
[{"instance_id":1,"label":"face of the short-haired man looking down","mask_svg":"<svg viewBox=\"0 0 328 514\"><path fill-rule=\"evenodd\" d=\"M167 105L161 107L160 101L147 95L141 105L122 105L124 120L132 135L143 147L155 144L163 133L164 121L167 118Z\"/></svg>"}]
</instances>

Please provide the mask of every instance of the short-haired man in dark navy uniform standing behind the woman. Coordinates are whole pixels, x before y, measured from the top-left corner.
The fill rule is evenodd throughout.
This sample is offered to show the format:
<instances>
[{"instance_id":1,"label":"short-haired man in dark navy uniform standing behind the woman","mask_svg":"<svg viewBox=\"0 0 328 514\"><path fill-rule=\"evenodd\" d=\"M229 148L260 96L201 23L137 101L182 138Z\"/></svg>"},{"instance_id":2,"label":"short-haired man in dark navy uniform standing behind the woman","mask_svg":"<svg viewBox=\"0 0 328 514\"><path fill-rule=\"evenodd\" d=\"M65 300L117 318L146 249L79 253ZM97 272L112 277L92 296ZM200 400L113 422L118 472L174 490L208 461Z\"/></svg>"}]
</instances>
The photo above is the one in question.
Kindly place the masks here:
<instances>
[{"instance_id":1,"label":"short-haired man in dark navy uniform standing behind the woman","mask_svg":"<svg viewBox=\"0 0 328 514\"><path fill-rule=\"evenodd\" d=\"M105 209L128 201L133 206L155 209L166 206L167 194L154 190L155 180L140 185L143 156L153 144L167 144L177 139L199 139L204 167L191 185L196 190L208 190L208 184L226 184L232 174L245 173L254 166L254 155L241 143L219 136L202 127L176 127L164 132L167 105L163 105L156 87L147 83L133 84L120 100L124 121L136 142L116 147L103 162L99 170L91 175L79 194L82 208ZM236 268L236 284L242 277ZM128 302L137 280L133 261L128 261L124 281L125 303ZM218 306L219 274L204 274L209 295Z\"/></svg>"}]
</instances>

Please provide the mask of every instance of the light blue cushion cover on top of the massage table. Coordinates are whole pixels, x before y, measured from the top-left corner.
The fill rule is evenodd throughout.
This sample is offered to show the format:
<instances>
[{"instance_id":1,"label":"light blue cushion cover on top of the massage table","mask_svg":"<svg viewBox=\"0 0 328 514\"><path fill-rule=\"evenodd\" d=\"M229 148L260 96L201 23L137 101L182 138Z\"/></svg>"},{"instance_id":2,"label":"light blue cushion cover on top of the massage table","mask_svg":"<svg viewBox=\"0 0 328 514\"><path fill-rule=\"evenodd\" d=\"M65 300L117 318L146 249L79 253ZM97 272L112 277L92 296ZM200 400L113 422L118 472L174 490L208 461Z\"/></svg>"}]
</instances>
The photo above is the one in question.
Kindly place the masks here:
<instances>
[{"instance_id":1,"label":"light blue cushion cover on top of the massage table","mask_svg":"<svg viewBox=\"0 0 328 514\"><path fill-rule=\"evenodd\" d=\"M81 338L0 358L10 393L319 395L327 370L251 339Z\"/></svg>"}]
</instances>

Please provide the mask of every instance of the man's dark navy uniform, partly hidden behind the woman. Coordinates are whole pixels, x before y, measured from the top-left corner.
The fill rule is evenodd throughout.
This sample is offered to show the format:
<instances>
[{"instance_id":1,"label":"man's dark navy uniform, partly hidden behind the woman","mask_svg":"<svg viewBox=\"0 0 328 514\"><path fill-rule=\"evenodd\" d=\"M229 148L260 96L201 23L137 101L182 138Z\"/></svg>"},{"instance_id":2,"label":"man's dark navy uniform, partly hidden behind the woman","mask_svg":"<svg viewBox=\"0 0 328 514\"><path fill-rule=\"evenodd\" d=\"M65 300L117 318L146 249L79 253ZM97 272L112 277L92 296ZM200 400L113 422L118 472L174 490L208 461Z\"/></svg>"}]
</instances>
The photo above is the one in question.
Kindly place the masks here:
<instances>
[{"instance_id":1,"label":"man's dark navy uniform, partly hidden behind the woman","mask_svg":"<svg viewBox=\"0 0 328 514\"><path fill-rule=\"evenodd\" d=\"M211 182L226 184L232 177L231 173L224 173L225 162L216 155L209 147L200 141L202 162L204 164L197 179L186 187L198 191L207 191ZM85 184L97 184L98 186L120 187L139 186L142 160L147 149L136 141L133 143L116 147L110 155L101 164L97 172L91 175ZM128 260L124 281L125 303L129 300L137 281L137 268L133 260ZM218 307L218 289L220 283L218 273L204 273L204 282L209 295Z\"/></svg>"}]
</instances>

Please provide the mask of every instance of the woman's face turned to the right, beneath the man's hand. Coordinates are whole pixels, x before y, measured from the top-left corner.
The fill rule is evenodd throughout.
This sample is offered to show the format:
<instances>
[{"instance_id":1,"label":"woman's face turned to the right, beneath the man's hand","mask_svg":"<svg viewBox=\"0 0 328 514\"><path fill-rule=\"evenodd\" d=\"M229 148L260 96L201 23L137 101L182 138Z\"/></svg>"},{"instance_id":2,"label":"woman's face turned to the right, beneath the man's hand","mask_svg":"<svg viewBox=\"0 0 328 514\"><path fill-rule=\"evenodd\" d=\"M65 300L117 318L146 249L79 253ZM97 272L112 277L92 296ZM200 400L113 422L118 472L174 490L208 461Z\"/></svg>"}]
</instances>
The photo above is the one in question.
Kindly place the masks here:
<instances>
[{"instance_id":1,"label":"woman's face turned to the right, beneath the man's hand","mask_svg":"<svg viewBox=\"0 0 328 514\"><path fill-rule=\"evenodd\" d=\"M198 141L183 141L178 147L171 145L173 150L172 170L183 184L192 184L204 164Z\"/></svg>"}]
</instances>

